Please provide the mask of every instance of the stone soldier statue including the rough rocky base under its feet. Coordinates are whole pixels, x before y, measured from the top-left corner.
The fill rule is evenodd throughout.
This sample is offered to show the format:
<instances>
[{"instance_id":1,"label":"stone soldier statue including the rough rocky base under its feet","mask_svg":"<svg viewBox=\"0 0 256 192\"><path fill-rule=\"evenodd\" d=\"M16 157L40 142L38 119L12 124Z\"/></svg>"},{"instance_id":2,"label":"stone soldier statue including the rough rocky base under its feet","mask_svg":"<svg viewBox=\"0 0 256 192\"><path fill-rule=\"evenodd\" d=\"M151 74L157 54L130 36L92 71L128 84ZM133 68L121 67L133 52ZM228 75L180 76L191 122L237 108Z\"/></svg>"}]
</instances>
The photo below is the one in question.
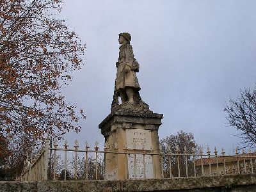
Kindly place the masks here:
<instances>
[{"instance_id":1,"label":"stone soldier statue including the rough rocky base under its feet","mask_svg":"<svg viewBox=\"0 0 256 192\"><path fill-rule=\"evenodd\" d=\"M141 100L140 84L136 76L140 65L134 58L132 45L130 44L131 35L129 33L120 33L118 42L120 44L118 62L116 62L116 81L115 92L111 111L122 108L140 108L149 110L148 105ZM118 97L121 97L122 104L119 105Z\"/></svg>"}]
</instances>

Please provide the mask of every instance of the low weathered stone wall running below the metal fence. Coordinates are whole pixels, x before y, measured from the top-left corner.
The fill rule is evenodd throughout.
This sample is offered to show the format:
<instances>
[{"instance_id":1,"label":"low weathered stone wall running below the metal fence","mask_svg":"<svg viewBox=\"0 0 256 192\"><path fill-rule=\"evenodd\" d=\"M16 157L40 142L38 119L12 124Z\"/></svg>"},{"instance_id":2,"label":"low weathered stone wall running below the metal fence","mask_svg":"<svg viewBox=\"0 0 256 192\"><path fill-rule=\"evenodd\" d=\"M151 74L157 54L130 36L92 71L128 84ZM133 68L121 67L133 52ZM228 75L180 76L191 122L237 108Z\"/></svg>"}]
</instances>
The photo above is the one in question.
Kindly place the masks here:
<instances>
[{"instance_id":1,"label":"low weathered stone wall running below the metal fence","mask_svg":"<svg viewBox=\"0 0 256 192\"><path fill-rule=\"evenodd\" d=\"M0 182L0 192L256 191L256 175L141 179Z\"/></svg>"}]
</instances>

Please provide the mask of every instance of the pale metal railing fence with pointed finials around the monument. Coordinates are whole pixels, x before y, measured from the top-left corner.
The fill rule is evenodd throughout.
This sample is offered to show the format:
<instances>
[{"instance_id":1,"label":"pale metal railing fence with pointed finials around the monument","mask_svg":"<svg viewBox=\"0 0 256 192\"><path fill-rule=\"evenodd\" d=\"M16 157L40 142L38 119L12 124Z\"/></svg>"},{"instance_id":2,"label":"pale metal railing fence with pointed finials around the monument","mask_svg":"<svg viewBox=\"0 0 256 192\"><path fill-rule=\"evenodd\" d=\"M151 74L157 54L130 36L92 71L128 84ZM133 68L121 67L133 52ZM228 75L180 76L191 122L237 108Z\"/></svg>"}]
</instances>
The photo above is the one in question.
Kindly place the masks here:
<instances>
[{"instance_id":1,"label":"pale metal railing fence with pointed finials around the monument","mask_svg":"<svg viewBox=\"0 0 256 192\"><path fill-rule=\"evenodd\" d=\"M159 153L156 153L153 148L150 150L135 150L132 148L117 148L109 150L109 147L104 147L104 150L99 150L99 143L96 141L93 150L90 150L88 143L85 143L84 149L79 149L77 140L74 143L74 148L68 148L68 142L65 141L63 148L59 147L57 141L53 143L53 147L49 145L50 141L45 141L45 146L38 153L38 156L29 163L26 163L24 172L22 173L21 180L99 180L105 177L104 164L106 154L112 154L115 157L116 168L118 163L125 164L125 179L128 179L128 156L133 156L133 167L135 177L134 179L146 179L145 173L145 158L146 157L159 157L161 161L161 177L202 177L214 175L237 175L256 173L256 154L255 152L239 154L236 149L236 155L226 156L224 150L218 154L214 148L211 154L207 148L204 154L202 148L196 152L192 148L191 154L188 153L186 147L179 149L176 147L175 152L167 149L163 152L163 148L159 147ZM158 151L158 150L157 150ZM67 154L72 154L72 159L68 159ZM124 162L118 162L117 156L124 156ZM142 163L136 162L136 157L142 156ZM153 161L154 158L152 158ZM62 162L62 163L60 163ZM61 164L61 166L60 166ZM152 162L154 164L154 162ZM142 173L138 177L139 166ZM137 170L137 171L136 171ZM153 172L156 170L153 170ZM155 174L153 174L155 175ZM136 177L137 176L137 177Z\"/></svg>"}]
</instances>

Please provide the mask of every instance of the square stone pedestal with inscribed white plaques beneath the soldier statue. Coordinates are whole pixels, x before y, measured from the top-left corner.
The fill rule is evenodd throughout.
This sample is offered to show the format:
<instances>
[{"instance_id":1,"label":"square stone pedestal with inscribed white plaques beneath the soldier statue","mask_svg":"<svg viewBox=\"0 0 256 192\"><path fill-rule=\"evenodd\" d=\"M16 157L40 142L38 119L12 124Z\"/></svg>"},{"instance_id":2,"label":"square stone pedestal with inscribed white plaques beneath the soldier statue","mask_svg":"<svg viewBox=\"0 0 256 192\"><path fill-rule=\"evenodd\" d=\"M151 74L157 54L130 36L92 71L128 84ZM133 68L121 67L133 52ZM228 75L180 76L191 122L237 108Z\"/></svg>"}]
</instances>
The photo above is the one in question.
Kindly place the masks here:
<instances>
[{"instance_id":1,"label":"square stone pedestal with inscribed white plaques beneath the soldier statue","mask_svg":"<svg viewBox=\"0 0 256 192\"><path fill-rule=\"evenodd\" d=\"M163 114L152 111L112 111L99 128L108 151L159 153L158 129L162 118ZM159 156L113 153L105 156L107 180L161 178L161 169Z\"/></svg>"}]
</instances>

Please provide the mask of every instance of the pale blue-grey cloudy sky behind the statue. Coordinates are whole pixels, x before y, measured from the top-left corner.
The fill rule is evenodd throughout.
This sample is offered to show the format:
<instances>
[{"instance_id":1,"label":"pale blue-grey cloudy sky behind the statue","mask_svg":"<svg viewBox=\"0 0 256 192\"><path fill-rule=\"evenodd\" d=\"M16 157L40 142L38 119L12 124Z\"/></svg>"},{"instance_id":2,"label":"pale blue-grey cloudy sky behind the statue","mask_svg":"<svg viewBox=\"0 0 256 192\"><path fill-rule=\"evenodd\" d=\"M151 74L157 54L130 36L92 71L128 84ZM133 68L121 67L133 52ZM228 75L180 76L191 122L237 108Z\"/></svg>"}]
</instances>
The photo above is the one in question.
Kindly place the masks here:
<instances>
[{"instance_id":1,"label":"pale blue-grey cloudy sky behind the statue","mask_svg":"<svg viewBox=\"0 0 256 192\"><path fill-rule=\"evenodd\" d=\"M87 118L68 140L103 145L98 125L110 112L118 34L129 32L141 97L164 114L159 138L183 130L204 147L231 153L240 140L223 108L256 81L255 7L254 0L64 1L61 17L87 48L64 92Z\"/></svg>"}]
</instances>

